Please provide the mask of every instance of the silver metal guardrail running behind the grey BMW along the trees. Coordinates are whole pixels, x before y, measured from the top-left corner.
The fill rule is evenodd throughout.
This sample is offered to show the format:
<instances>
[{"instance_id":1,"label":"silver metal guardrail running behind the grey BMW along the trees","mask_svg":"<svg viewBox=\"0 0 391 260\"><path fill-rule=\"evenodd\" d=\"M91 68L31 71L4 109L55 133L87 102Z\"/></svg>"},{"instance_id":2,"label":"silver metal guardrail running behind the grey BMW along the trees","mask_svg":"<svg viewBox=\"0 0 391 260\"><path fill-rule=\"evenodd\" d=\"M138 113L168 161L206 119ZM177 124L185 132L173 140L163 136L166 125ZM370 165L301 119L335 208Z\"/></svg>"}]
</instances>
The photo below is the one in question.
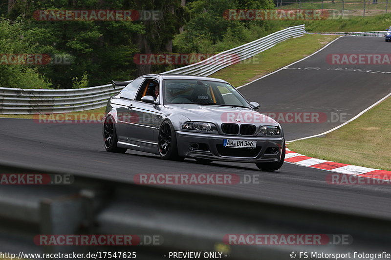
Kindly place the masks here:
<instances>
[{"instance_id":1,"label":"silver metal guardrail running behind the grey BMW along the trees","mask_svg":"<svg viewBox=\"0 0 391 260\"><path fill-rule=\"evenodd\" d=\"M219 53L207 60L166 71L163 74L209 76L222 68L267 50L283 40L303 35L304 25L289 27ZM112 89L111 84L65 90L0 88L0 114L66 113L95 109L105 106L109 97L120 92L122 88Z\"/></svg>"}]
</instances>

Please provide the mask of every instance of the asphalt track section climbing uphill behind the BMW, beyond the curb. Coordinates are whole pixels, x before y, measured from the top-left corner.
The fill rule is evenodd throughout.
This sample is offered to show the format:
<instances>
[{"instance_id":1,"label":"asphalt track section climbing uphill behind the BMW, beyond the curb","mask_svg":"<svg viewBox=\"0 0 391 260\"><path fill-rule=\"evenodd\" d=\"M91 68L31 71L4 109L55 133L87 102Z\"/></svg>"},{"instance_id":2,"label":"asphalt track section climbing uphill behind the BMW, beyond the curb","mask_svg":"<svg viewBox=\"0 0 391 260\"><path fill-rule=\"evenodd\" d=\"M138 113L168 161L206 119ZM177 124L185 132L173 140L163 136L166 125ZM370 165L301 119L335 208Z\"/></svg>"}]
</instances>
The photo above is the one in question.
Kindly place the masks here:
<instances>
[{"instance_id":1,"label":"asphalt track section climbing uphill behind the BMW, beyond the curb","mask_svg":"<svg viewBox=\"0 0 391 260\"><path fill-rule=\"evenodd\" d=\"M282 123L285 140L320 134L343 122L336 120L336 115L331 118L330 113L351 119L391 92L389 64L329 64L327 55L385 54L391 48L387 43L380 37L342 37L321 52L239 91L249 101L259 101L261 112L327 114L330 122Z\"/></svg>"}]
</instances>

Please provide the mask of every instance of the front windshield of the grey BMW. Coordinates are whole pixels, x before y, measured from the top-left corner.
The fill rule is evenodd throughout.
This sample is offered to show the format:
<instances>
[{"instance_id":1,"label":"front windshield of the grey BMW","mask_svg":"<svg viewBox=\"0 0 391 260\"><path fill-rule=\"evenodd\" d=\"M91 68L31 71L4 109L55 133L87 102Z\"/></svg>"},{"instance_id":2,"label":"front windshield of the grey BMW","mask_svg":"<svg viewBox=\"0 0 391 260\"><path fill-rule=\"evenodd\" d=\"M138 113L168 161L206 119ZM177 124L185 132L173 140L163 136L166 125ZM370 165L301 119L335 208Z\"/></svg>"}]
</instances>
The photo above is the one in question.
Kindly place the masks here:
<instances>
[{"instance_id":1,"label":"front windshield of the grey BMW","mask_svg":"<svg viewBox=\"0 0 391 260\"><path fill-rule=\"evenodd\" d=\"M230 84L211 80L164 80L164 104L205 104L248 107Z\"/></svg>"}]
</instances>

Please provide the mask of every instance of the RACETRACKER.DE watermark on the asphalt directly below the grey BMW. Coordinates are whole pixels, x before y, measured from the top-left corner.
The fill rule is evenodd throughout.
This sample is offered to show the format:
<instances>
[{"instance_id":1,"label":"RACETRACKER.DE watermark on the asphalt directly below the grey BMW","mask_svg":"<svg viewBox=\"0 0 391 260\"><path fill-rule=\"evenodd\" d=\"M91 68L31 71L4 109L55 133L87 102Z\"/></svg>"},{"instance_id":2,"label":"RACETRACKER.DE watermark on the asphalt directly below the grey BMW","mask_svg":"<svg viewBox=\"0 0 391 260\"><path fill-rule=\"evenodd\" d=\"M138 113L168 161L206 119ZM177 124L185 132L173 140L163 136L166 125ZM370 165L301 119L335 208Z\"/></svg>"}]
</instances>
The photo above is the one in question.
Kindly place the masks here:
<instances>
[{"instance_id":1,"label":"RACETRACKER.DE watermark on the asphalt directly below the grey BMW","mask_svg":"<svg viewBox=\"0 0 391 260\"><path fill-rule=\"evenodd\" d=\"M236 185L260 184L259 174L136 174L133 181L140 185Z\"/></svg>"}]
</instances>

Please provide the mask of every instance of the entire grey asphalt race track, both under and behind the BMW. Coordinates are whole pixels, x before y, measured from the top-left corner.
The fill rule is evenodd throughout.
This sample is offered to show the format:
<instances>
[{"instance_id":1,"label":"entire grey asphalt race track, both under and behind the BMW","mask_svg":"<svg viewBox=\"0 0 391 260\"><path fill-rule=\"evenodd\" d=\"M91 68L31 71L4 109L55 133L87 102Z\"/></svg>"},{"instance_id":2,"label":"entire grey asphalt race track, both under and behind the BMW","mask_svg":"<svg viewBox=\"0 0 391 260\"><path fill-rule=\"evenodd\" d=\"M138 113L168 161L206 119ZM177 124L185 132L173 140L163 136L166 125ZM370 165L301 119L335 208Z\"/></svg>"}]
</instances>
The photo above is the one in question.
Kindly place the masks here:
<instances>
[{"instance_id":1,"label":"entire grey asphalt race track, both under and behind the BMW","mask_svg":"<svg viewBox=\"0 0 391 260\"><path fill-rule=\"evenodd\" d=\"M391 72L390 65L331 65L326 62L326 55L389 53L390 48L391 43L380 37L343 37L306 60L240 88L240 92L249 101L261 103L260 111L346 113L349 119L391 92L391 74L381 73ZM340 123L282 123L282 126L286 140L293 140L322 133ZM276 172L261 172L253 164L165 161L130 150L126 154L112 154L103 147L101 124L0 119L0 126L0 163L53 172L60 169L124 182L132 182L133 176L140 173L259 174L261 184L167 188L391 218L388 185L332 185L325 181L330 172L289 163Z\"/></svg>"}]
</instances>

